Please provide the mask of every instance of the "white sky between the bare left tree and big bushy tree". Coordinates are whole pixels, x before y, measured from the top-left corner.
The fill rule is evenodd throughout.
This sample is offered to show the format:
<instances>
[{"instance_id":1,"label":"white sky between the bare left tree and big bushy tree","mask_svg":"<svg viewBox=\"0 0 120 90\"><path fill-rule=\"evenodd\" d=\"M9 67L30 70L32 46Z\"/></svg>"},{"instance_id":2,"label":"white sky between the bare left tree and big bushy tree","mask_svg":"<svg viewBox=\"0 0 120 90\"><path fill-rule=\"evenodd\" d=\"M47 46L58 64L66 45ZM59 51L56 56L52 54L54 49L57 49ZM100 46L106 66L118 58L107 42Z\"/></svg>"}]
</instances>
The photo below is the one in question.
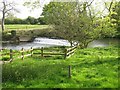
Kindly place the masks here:
<instances>
[{"instance_id":1,"label":"white sky between the bare left tree and big bushy tree","mask_svg":"<svg viewBox=\"0 0 120 90\"><path fill-rule=\"evenodd\" d=\"M0 7L2 7L2 2L3 0L0 0ZM14 1L16 3L16 8L18 11L20 11L19 13L14 13L16 17L18 18L22 18L22 19L25 19L27 18L28 16L32 16L32 17L35 17L35 18L38 18L41 13L42 13L42 7L44 6L44 4L47 4L50 0L41 0L41 4L42 4L42 7L39 7L37 9L34 9L34 10L31 10L26 7L26 6L23 6L24 2L25 1L28 1L28 0L6 0L8 2L12 2ZM31 1L35 1L35 0L31 0ZM2 13L0 12L0 18L2 17Z\"/></svg>"}]
</instances>

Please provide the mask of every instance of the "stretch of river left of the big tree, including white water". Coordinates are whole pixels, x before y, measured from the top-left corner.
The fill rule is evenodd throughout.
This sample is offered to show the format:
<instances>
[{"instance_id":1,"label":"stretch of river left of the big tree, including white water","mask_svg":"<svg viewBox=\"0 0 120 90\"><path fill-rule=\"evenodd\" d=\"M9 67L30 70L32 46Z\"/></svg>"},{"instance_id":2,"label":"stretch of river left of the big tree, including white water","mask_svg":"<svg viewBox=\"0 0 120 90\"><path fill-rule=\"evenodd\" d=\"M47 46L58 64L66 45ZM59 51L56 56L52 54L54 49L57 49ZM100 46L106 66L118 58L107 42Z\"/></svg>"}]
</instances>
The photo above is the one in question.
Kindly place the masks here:
<instances>
[{"instance_id":1,"label":"stretch of river left of the big tree, including white water","mask_svg":"<svg viewBox=\"0 0 120 90\"><path fill-rule=\"evenodd\" d=\"M41 48L41 47L51 47L51 46L70 46L68 40L64 39L50 39L50 38L35 38L33 42L20 42L19 44L6 44L3 45L3 48L13 49L13 50L21 50L33 48Z\"/></svg>"}]
</instances>

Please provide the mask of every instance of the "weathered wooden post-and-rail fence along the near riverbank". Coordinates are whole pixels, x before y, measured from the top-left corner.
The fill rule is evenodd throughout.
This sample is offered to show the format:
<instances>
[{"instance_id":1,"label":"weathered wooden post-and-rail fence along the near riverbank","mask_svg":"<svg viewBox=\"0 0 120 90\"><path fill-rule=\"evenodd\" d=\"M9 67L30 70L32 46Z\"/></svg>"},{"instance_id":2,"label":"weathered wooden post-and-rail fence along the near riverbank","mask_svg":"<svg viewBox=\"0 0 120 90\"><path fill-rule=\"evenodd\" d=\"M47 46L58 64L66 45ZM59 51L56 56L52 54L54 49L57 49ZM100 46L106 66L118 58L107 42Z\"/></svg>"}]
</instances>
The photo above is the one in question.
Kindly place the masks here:
<instances>
[{"instance_id":1,"label":"weathered wooden post-and-rail fence along the near riverbank","mask_svg":"<svg viewBox=\"0 0 120 90\"><path fill-rule=\"evenodd\" d=\"M20 51L15 51L15 50L7 50L7 49L2 49L0 50L1 54L0 56L5 57L9 55L9 61L11 62L13 59L18 59L21 58L22 60L24 60L25 57L28 56L35 56L35 55L40 55L41 57L46 57L46 56L53 56L53 55L61 55L64 57L64 59L70 57L71 55L74 54L75 49L77 48L77 46L71 47L71 48L64 48L62 50L56 50L54 48L35 48L33 49L31 47L31 49L29 50L25 50L24 48L22 48ZM7 52L4 53L4 50L7 50Z\"/></svg>"}]
</instances>

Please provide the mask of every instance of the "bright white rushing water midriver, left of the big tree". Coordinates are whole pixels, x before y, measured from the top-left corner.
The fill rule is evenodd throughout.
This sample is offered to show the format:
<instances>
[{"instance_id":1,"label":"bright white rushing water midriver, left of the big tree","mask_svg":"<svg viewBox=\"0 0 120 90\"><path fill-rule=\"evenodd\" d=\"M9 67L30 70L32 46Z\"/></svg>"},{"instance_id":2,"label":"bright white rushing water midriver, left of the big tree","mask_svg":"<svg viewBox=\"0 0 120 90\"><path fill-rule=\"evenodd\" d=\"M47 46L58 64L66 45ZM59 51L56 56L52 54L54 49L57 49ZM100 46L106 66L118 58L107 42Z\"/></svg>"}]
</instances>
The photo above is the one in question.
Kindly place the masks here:
<instances>
[{"instance_id":1,"label":"bright white rushing water midriver, left of the big tree","mask_svg":"<svg viewBox=\"0 0 120 90\"><path fill-rule=\"evenodd\" d=\"M35 38L33 43L57 46L70 46L69 41L64 39Z\"/></svg>"}]
</instances>

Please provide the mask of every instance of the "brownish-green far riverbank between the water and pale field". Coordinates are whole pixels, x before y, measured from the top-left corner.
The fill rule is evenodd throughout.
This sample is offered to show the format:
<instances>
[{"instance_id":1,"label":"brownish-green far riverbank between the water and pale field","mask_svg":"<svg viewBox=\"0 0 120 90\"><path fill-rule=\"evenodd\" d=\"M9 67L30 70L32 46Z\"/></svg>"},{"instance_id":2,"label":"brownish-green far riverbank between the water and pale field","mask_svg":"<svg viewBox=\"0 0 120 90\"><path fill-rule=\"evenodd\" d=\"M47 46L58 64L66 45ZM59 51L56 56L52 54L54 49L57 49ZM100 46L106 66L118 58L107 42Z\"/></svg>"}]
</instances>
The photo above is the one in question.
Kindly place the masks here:
<instances>
[{"instance_id":1,"label":"brownish-green far riverbank between the water and pale field","mask_svg":"<svg viewBox=\"0 0 120 90\"><path fill-rule=\"evenodd\" d=\"M21 30L6 30L2 34L2 40L4 42L11 41L13 37L17 37L19 42L31 42L36 37L46 37L46 38L61 38L56 35L56 32L52 29L51 26L46 25L47 27L39 29L21 29Z\"/></svg>"}]
</instances>

